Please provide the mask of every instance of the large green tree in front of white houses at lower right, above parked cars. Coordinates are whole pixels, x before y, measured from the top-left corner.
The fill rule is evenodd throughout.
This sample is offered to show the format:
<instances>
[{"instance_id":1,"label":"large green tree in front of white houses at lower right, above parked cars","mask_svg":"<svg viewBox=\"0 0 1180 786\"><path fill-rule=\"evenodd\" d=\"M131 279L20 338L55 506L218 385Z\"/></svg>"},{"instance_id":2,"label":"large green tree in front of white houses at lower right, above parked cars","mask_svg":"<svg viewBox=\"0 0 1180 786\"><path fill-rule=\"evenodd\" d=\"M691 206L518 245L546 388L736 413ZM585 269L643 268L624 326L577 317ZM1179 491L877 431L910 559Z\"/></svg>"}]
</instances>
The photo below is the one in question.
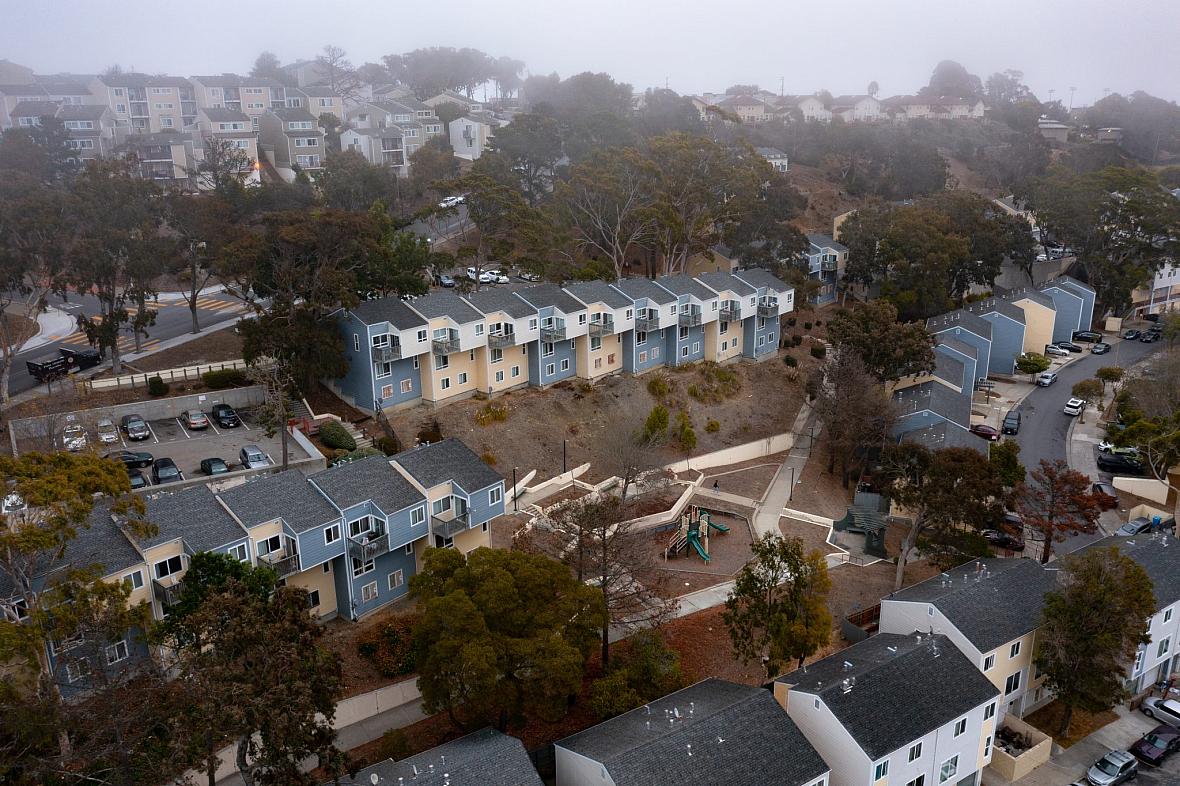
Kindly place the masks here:
<instances>
[{"instance_id":1,"label":"large green tree in front of white houses at lower right, above parked cars","mask_svg":"<svg viewBox=\"0 0 1180 786\"><path fill-rule=\"evenodd\" d=\"M1036 664L1066 709L1057 729L1064 736L1075 709L1099 713L1129 697L1127 664L1150 642L1145 621L1155 614L1155 596L1143 569L1116 546L1061 564L1060 588L1044 596Z\"/></svg>"}]
</instances>

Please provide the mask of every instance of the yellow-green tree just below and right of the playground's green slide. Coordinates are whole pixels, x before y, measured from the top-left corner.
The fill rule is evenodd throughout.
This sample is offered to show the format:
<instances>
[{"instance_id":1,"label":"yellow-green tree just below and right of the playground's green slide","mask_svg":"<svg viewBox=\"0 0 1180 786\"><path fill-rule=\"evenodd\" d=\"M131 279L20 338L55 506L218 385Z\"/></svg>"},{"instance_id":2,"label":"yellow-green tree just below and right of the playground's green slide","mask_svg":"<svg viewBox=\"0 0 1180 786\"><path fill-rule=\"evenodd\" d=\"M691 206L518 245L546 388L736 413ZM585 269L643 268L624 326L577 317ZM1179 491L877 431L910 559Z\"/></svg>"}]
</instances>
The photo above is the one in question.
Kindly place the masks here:
<instances>
[{"instance_id":1,"label":"yellow-green tree just below and right of the playground's green slide","mask_svg":"<svg viewBox=\"0 0 1180 786\"><path fill-rule=\"evenodd\" d=\"M827 592L832 581L819 551L802 541L766 535L754 542L753 559L741 569L726 598L723 620L734 653L745 662L760 660L773 677L799 666L832 635Z\"/></svg>"}]
</instances>

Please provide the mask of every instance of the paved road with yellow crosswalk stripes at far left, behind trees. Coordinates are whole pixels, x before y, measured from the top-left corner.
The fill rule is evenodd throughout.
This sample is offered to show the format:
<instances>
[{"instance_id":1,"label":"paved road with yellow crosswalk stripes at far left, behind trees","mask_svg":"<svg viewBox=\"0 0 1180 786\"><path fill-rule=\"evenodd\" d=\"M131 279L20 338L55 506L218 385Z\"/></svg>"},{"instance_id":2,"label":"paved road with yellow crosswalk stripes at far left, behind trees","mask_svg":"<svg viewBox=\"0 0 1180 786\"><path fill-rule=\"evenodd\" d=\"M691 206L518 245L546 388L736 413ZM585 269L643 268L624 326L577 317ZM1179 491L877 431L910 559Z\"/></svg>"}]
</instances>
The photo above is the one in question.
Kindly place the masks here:
<instances>
[{"instance_id":1,"label":"paved road with yellow crosswalk stripes at far left, behind trees","mask_svg":"<svg viewBox=\"0 0 1180 786\"><path fill-rule=\"evenodd\" d=\"M57 306L72 315L85 314L87 316L93 316L99 313L98 299L92 295L71 295L70 300L66 302L63 302L60 297L54 295L50 297L50 304ZM152 304L152 308L157 312L156 325L148 328L148 338L142 341L142 346L145 349L151 349L160 341L165 341L192 330L192 317L189 313L189 304L185 301L177 300L171 302L160 302L158 306ZM201 320L202 329L218 325L225 320L236 320L244 313L245 308L242 306L242 302L231 295L215 294L197 299L197 317ZM12 376L8 380L9 392L15 395L17 393L27 391L38 384L32 376L30 376L28 369L25 367L26 360L37 360L39 358L57 355L58 347L87 346L90 345L86 341L85 334L76 329L73 333L63 336L58 341L53 341L28 352L19 353L15 359L17 362L13 365ZM130 335L127 335L119 340L119 346L123 352L130 352L135 348L135 341Z\"/></svg>"}]
</instances>

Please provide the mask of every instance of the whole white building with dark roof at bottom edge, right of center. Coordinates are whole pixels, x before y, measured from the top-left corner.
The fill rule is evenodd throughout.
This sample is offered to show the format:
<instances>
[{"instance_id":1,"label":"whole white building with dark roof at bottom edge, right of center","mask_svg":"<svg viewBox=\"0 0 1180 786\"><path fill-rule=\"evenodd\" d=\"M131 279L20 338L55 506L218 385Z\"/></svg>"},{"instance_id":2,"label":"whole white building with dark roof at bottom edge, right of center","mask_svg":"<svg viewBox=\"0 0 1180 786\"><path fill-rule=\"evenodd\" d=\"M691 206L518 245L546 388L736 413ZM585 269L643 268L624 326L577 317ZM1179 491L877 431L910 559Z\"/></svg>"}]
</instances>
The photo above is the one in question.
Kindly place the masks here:
<instances>
[{"instance_id":1,"label":"whole white building with dark roof at bottom edge, right of center","mask_svg":"<svg viewBox=\"0 0 1180 786\"><path fill-rule=\"evenodd\" d=\"M946 637L878 634L774 681L841 786L977 786L999 690Z\"/></svg>"}]
</instances>

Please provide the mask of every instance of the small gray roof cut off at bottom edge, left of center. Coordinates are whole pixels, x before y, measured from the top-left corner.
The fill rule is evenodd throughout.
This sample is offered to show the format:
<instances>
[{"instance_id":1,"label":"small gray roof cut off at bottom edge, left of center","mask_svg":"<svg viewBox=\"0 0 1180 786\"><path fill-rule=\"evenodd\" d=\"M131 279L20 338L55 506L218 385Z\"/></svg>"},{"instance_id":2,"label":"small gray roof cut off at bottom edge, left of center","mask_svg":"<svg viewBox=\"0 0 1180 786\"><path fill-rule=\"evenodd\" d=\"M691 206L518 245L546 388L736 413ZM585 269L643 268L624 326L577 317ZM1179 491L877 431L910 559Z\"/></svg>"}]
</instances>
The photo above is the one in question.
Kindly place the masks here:
<instances>
[{"instance_id":1,"label":"small gray roof cut off at bottom edge, left of center","mask_svg":"<svg viewBox=\"0 0 1180 786\"><path fill-rule=\"evenodd\" d=\"M391 786L401 779L413 786L542 786L520 740L490 728L401 761L388 759L341 782L368 786L374 774Z\"/></svg>"}]
</instances>

